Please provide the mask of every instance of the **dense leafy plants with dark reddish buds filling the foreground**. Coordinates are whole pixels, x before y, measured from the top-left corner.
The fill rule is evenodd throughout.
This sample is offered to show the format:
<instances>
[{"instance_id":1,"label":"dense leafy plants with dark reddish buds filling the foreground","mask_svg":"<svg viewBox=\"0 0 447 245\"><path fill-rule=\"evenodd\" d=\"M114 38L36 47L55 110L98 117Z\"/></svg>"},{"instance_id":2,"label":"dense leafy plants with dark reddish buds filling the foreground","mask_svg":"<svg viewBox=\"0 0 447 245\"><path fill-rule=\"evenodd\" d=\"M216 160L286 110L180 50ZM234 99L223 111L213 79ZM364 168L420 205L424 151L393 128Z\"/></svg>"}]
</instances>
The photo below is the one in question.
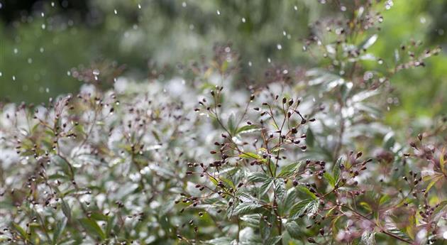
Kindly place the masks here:
<instances>
[{"instance_id":1,"label":"dense leafy plants with dark reddish buds filling the foreground","mask_svg":"<svg viewBox=\"0 0 447 245\"><path fill-rule=\"evenodd\" d=\"M376 58L372 5L315 23L304 49L321 66L274 67L267 86L233 80L238 55L216 45L191 80L2 105L1 241L445 243L446 119L382 121L399 106L392 76L439 49Z\"/></svg>"}]
</instances>

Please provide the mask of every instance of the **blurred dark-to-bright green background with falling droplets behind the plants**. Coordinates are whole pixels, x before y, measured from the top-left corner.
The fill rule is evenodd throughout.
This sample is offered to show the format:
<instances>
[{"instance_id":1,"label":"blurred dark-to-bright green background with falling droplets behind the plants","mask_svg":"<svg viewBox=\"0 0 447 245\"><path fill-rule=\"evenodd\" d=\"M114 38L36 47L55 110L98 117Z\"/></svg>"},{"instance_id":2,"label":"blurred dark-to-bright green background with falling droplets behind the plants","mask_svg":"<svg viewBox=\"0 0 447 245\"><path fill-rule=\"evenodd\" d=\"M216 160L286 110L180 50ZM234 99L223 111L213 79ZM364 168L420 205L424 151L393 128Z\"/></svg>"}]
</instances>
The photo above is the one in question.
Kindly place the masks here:
<instances>
[{"instance_id":1,"label":"blurred dark-to-bright green background with falling droplets behind the plants","mask_svg":"<svg viewBox=\"0 0 447 245\"><path fill-rule=\"evenodd\" d=\"M335 14L329 4L316 0L0 4L0 100L33 103L77 92L82 81L94 79L92 73L82 75L85 69L101 70L104 80L121 74L136 80L169 79L181 75L181 64L212 56L216 43L231 43L239 53L241 79L262 80L272 65L317 66L302 50L302 38L308 36L310 23ZM382 14L382 31L372 48L377 57L392 59L394 49L412 39L422 40L426 48L443 48L425 68L393 77L402 107L387 120L399 125L414 116L445 113L447 0L396 0Z\"/></svg>"}]
</instances>

